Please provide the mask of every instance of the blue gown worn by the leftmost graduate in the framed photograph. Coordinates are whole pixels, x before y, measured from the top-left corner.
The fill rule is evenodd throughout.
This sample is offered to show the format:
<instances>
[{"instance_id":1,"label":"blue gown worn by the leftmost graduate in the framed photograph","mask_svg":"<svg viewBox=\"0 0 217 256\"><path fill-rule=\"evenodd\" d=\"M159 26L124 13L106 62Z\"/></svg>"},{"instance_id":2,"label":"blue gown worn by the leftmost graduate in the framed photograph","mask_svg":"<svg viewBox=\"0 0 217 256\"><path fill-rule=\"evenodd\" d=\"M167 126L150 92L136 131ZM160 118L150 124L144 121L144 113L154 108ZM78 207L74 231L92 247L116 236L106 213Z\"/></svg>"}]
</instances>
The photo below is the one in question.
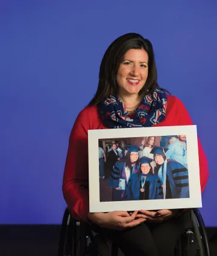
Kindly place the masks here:
<instances>
[{"instance_id":1,"label":"blue gown worn by the leftmost graduate in the framed photograph","mask_svg":"<svg viewBox=\"0 0 217 256\"><path fill-rule=\"evenodd\" d=\"M113 188L112 200L113 201L122 201L124 200L125 190L131 184L131 177L137 173L139 170L139 164L134 164L133 171L130 173L130 178L127 182L127 175L125 173L125 161L118 161L113 167L111 176L108 180L108 185ZM115 188L119 187L120 179L125 180L125 190L116 190Z\"/></svg>"}]
</instances>

